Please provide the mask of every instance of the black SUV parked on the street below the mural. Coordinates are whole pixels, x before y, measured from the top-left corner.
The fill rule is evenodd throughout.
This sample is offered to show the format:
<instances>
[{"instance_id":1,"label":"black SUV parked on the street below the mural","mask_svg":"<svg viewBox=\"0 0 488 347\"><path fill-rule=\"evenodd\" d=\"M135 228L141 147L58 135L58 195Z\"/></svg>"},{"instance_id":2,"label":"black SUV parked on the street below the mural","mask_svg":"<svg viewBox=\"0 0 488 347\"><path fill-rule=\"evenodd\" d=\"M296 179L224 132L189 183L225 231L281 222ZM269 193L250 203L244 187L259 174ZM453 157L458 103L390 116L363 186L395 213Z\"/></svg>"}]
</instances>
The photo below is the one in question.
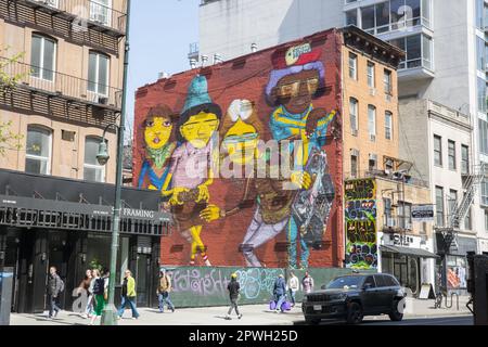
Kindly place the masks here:
<instances>
[{"instance_id":1,"label":"black SUV parked on the street below the mural","mask_svg":"<svg viewBox=\"0 0 488 347\"><path fill-rule=\"evenodd\" d=\"M305 295L301 310L311 324L332 318L358 324L364 316L378 314L401 321L404 296L397 279L390 274L350 274L336 278L322 286L322 291Z\"/></svg>"}]
</instances>

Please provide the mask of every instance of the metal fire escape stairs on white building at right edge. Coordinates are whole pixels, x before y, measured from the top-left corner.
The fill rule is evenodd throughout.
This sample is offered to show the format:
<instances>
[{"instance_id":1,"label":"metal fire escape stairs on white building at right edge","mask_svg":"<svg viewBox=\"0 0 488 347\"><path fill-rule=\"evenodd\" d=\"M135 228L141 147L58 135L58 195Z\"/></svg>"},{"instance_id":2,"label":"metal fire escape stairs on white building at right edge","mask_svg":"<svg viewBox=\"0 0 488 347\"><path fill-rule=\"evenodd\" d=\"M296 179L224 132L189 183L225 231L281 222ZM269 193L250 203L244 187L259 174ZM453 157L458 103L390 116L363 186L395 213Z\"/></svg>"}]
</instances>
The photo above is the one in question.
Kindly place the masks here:
<instances>
[{"instance_id":1,"label":"metal fire escape stairs on white building at right edge","mask_svg":"<svg viewBox=\"0 0 488 347\"><path fill-rule=\"evenodd\" d=\"M447 220L446 227L436 227L436 231L440 232L445 242L445 253L449 249L455 250L458 247L457 234L461 227L461 221L466 217L471 205L474 202L476 191L486 177L486 164L476 165L472 172L463 175L464 196L461 202L452 201L452 210ZM459 202L459 203L458 203Z\"/></svg>"}]
</instances>

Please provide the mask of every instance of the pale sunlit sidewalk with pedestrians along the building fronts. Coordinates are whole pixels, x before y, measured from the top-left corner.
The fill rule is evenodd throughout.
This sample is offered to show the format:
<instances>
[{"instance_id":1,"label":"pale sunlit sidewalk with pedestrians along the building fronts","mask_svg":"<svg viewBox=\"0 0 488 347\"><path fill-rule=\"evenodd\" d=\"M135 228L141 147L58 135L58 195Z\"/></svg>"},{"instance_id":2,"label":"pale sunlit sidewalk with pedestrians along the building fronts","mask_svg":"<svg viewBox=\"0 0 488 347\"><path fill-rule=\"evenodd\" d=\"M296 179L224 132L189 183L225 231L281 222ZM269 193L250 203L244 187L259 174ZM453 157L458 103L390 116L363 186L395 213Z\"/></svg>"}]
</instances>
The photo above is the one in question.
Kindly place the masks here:
<instances>
[{"instance_id":1,"label":"pale sunlit sidewalk with pedestrians along the building fronts","mask_svg":"<svg viewBox=\"0 0 488 347\"><path fill-rule=\"evenodd\" d=\"M407 298L404 318L435 318L451 316L470 316L465 304L467 297L460 297L459 310L455 300L452 308L448 309L442 301L441 309L434 309L434 300L418 300ZM450 299L448 300L450 305ZM141 317L138 320L130 319L130 310L125 313L125 319L118 321L118 325L293 325L303 322L301 308L297 305L292 311L274 313L269 311L266 305L242 306L242 320L235 316L231 321L224 320L227 307L205 307L177 309L174 313L169 310L159 313L157 309L140 308ZM48 320L46 314L12 314L11 325L88 325L89 320L79 314L62 311L55 320ZM100 324L100 319L98 323Z\"/></svg>"}]
</instances>

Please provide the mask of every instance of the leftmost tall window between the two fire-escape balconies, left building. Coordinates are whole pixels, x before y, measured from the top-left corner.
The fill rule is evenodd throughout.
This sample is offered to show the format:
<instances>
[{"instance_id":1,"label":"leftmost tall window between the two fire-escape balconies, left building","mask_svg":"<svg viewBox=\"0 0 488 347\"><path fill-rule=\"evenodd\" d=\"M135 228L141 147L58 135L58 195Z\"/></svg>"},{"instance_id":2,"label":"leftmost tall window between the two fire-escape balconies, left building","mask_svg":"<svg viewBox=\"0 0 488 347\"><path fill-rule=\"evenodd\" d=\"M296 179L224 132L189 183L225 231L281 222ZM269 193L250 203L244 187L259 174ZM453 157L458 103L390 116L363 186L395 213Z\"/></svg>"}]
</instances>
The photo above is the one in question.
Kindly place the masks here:
<instances>
[{"instance_id":1,"label":"leftmost tall window between the two fire-escape balconies, left building","mask_svg":"<svg viewBox=\"0 0 488 347\"><path fill-rule=\"evenodd\" d=\"M30 48L31 76L49 81L54 80L56 41L41 35L34 34Z\"/></svg>"}]
</instances>

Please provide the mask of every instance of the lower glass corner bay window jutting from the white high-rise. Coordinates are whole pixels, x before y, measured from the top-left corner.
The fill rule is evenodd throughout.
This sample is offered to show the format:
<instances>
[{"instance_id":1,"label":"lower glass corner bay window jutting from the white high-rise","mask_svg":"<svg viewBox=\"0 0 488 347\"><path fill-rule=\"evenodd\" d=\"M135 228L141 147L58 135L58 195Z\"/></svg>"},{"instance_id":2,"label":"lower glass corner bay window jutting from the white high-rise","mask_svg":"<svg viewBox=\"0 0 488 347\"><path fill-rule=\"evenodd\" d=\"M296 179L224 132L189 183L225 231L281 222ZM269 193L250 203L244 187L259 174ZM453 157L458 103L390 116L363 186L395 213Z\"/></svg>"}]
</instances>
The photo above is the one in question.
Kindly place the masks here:
<instances>
[{"instance_id":1,"label":"lower glass corner bay window jutting from the white high-rise","mask_svg":"<svg viewBox=\"0 0 488 347\"><path fill-rule=\"evenodd\" d=\"M389 43L407 53L406 59L398 65L400 69L420 66L433 69L432 39L428 36L422 34L412 35L390 40Z\"/></svg>"}]
</instances>

